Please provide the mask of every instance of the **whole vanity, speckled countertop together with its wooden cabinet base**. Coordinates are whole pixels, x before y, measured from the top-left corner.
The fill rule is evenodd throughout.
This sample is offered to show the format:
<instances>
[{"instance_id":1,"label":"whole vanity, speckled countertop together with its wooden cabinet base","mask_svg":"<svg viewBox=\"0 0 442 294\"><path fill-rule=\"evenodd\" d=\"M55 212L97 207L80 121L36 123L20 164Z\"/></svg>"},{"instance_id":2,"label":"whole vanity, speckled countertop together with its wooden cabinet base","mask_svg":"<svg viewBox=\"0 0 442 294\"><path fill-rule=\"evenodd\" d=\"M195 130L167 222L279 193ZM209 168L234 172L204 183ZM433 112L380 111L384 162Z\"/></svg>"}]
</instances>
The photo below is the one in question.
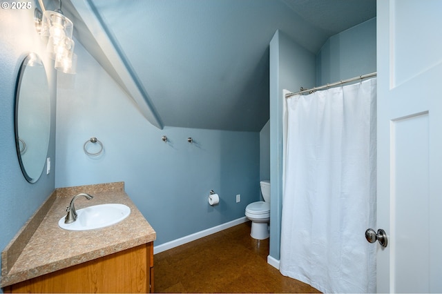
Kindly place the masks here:
<instances>
[{"instance_id":1,"label":"whole vanity, speckled countertop together with its wooden cabinet base","mask_svg":"<svg viewBox=\"0 0 442 294\"><path fill-rule=\"evenodd\" d=\"M77 209L118 203L131 214L117 224L66 231L58 221L78 193ZM124 192L124 183L57 188L2 252L4 293L153 292L156 233Z\"/></svg>"}]
</instances>

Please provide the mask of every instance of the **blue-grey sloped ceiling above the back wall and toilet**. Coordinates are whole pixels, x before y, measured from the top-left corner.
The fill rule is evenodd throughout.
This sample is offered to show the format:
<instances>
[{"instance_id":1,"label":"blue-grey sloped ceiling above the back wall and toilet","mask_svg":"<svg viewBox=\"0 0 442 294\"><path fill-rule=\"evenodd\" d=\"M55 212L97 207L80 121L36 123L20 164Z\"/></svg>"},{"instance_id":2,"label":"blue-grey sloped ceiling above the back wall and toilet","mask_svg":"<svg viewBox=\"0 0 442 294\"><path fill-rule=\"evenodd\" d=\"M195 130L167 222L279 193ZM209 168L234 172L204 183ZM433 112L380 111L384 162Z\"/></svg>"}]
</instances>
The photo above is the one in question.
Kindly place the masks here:
<instances>
[{"instance_id":1,"label":"blue-grey sloped ceiling above the back wall and toilet","mask_svg":"<svg viewBox=\"0 0 442 294\"><path fill-rule=\"evenodd\" d=\"M316 53L376 17L376 0L72 0L63 11L158 128L259 131L276 30Z\"/></svg>"}]
</instances>

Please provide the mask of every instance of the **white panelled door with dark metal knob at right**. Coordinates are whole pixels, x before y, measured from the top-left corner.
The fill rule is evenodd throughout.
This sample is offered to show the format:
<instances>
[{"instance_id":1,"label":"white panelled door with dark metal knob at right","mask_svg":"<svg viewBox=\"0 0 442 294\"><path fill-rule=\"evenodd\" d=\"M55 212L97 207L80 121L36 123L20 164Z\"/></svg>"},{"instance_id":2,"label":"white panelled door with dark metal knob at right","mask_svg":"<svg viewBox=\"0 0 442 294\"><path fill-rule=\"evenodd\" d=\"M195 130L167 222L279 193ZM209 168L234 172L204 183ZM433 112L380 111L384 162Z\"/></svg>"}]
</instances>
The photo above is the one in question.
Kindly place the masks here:
<instances>
[{"instance_id":1,"label":"white panelled door with dark metal knob at right","mask_svg":"<svg viewBox=\"0 0 442 294\"><path fill-rule=\"evenodd\" d=\"M377 43L377 291L440 293L442 1L378 0Z\"/></svg>"}]
</instances>

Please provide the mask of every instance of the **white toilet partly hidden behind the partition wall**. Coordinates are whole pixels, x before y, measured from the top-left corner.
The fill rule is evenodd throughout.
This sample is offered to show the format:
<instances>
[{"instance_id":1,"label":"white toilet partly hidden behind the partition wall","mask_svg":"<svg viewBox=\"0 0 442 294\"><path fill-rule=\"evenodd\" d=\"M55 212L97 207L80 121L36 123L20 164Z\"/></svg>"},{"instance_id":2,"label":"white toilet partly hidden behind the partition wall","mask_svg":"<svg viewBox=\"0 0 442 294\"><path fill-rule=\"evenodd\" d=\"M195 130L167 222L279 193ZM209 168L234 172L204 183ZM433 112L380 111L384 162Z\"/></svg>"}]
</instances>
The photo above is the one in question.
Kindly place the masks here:
<instances>
[{"instance_id":1,"label":"white toilet partly hidden behind the partition wall","mask_svg":"<svg viewBox=\"0 0 442 294\"><path fill-rule=\"evenodd\" d=\"M260 186L264 201L253 202L247 205L246 217L251 220L251 237L263 240L269 237L270 181L261 181Z\"/></svg>"}]
</instances>

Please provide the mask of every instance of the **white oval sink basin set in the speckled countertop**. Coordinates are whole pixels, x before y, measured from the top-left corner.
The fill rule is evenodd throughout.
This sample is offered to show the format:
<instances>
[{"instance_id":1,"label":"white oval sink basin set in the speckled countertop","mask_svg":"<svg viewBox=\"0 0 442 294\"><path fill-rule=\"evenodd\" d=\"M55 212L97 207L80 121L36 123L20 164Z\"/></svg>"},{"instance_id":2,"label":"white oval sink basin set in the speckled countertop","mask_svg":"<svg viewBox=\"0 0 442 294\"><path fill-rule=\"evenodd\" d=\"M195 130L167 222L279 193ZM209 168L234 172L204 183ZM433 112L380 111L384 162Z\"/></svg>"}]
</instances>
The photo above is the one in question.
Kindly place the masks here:
<instances>
[{"instance_id":1,"label":"white oval sink basin set in the speckled countertop","mask_svg":"<svg viewBox=\"0 0 442 294\"><path fill-rule=\"evenodd\" d=\"M86 231L104 228L121 222L131 214L131 208L124 204L100 204L77 210L77 220L70 224L64 223L64 217L58 222L60 228L69 231Z\"/></svg>"}]
</instances>

